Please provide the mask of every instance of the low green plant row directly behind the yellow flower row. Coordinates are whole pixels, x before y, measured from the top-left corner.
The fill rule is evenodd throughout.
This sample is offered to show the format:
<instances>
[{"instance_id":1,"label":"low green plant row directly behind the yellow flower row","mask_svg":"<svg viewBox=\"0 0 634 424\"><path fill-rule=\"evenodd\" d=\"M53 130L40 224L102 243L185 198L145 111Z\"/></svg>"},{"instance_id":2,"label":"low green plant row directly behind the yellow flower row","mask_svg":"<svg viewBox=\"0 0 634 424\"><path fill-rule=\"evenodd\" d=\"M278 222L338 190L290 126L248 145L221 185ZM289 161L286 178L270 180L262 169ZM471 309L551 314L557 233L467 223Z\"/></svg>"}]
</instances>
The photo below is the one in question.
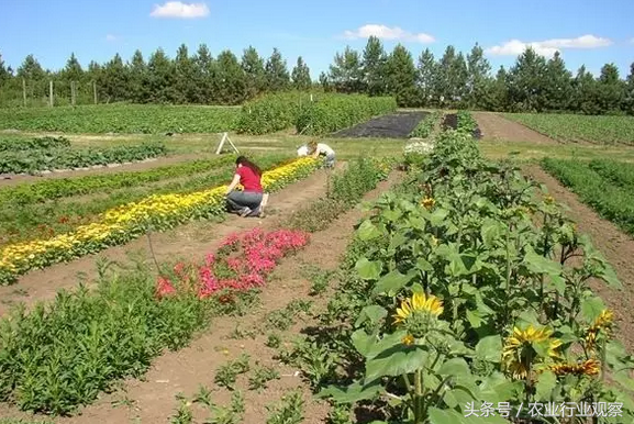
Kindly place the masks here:
<instances>
[{"instance_id":1,"label":"low green plant row directly behind the yellow flower row","mask_svg":"<svg viewBox=\"0 0 634 424\"><path fill-rule=\"evenodd\" d=\"M263 170L272 169L287 159L288 156L279 154L254 158ZM99 214L109 209L140 201L151 194L190 193L226 183L233 176L233 169L227 161L225 165L218 165L211 172L192 175L190 178L170 181L160 187L125 187L89 201L55 200L24 205L5 203L0 207L0 245L33 238L49 238L70 232L78 225L93 222Z\"/></svg>"}]
</instances>

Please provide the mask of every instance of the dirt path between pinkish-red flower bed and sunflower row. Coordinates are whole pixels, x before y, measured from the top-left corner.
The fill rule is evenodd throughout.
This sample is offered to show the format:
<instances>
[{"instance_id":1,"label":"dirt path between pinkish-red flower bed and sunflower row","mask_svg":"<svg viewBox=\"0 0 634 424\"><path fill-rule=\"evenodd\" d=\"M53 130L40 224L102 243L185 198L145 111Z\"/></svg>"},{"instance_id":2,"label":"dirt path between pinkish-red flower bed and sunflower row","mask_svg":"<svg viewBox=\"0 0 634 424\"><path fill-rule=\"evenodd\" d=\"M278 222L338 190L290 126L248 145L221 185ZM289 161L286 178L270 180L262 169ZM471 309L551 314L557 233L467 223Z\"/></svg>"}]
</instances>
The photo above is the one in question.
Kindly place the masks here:
<instances>
[{"instance_id":1,"label":"dirt path between pinkish-red flower bed and sunflower row","mask_svg":"<svg viewBox=\"0 0 634 424\"><path fill-rule=\"evenodd\" d=\"M399 176L392 175L377 189L369 192L365 199L374 199L387 190ZM255 335L255 338L235 338L236 325L242 330L253 331L262 328L266 314L285 308L293 300L313 300L309 292L311 282L302 276L302 268L313 265L322 270L336 269L341 255L345 252L353 233L353 226L364 215L360 209L354 209L342 214L331 225L311 236L307 248L280 264L270 278L262 294L262 305L253 313L236 320L235 317L219 317L211 325L211 330L196 339L189 347L177 353L166 353L157 358L144 381L129 380L123 388L112 394L102 394L94 404L86 408L81 415L68 419L58 419L60 424L84 423L166 423L175 413L178 402L175 397L183 393L191 399L199 387L213 388L212 402L218 405L229 405L231 392L219 388L214 383L215 369L229 360L237 358L242 353L251 356L252 368L255 360L263 366L271 366L280 373L280 379L269 382L262 392L248 390L244 376L237 380L236 389L244 394L246 412L244 423L264 423L268 411L266 405L277 403L289 390L300 389L304 400L304 421L307 424L323 423L329 406L323 401L312 398L312 394L296 369L283 366L274 359L277 350L265 345L267 331ZM246 222L246 221L243 221ZM321 299L324 302L325 297ZM288 342L298 335L305 324L301 320L288 332L278 332L282 339ZM209 416L202 408L192 406L194 422L202 422ZM19 412L0 406L0 416L20 416Z\"/></svg>"}]
</instances>

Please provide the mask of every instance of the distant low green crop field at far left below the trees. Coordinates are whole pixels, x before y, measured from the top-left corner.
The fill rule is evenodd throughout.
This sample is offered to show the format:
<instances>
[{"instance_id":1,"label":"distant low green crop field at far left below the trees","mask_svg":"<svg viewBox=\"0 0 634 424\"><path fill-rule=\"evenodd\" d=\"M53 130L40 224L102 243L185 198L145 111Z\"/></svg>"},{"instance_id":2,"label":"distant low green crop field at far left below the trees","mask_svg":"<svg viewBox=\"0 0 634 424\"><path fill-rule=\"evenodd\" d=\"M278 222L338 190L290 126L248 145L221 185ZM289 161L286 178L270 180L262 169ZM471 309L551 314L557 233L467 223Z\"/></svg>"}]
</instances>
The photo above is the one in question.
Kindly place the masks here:
<instances>
[{"instance_id":1,"label":"distant low green crop field at far left below the trees","mask_svg":"<svg viewBox=\"0 0 634 424\"><path fill-rule=\"evenodd\" d=\"M99 104L0 110L0 130L68 133L218 133L233 131L240 109Z\"/></svg>"}]
</instances>

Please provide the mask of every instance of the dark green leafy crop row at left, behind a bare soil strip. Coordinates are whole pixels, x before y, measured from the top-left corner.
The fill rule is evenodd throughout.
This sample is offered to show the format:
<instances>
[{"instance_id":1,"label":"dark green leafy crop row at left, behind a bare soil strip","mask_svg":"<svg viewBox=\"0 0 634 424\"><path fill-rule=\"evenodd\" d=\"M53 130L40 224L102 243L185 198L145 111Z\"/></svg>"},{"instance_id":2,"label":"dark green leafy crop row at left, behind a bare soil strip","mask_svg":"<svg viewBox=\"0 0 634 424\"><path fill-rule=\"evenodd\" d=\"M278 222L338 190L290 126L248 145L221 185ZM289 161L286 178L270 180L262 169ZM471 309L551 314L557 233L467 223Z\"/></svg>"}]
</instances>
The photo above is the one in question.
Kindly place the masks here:
<instances>
[{"instance_id":1,"label":"dark green leafy crop row at left, behind a bare soil strip","mask_svg":"<svg viewBox=\"0 0 634 424\"><path fill-rule=\"evenodd\" d=\"M0 174L34 174L43 170L122 164L163 156L166 153L167 147L163 143L142 143L114 147L3 152L0 155Z\"/></svg>"}]
</instances>

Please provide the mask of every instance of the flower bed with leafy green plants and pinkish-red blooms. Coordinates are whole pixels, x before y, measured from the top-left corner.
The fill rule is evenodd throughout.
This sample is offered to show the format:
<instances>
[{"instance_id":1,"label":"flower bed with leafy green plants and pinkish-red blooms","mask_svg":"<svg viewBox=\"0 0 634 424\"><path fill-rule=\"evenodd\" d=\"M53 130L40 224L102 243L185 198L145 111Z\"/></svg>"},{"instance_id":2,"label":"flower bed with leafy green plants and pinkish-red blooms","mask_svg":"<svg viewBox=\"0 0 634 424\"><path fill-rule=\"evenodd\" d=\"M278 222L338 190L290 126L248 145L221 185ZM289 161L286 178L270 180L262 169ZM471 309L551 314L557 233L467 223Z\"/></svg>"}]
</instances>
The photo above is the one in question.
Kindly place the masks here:
<instances>
[{"instance_id":1,"label":"flower bed with leafy green plants and pinkish-red blooms","mask_svg":"<svg viewBox=\"0 0 634 424\"><path fill-rule=\"evenodd\" d=\"M229 236L201 264L168 266L155 281L140 269L60 293L0 321L0 398L66 415L115 380L141 377L165 348L180 349L210 319L253 305L265 278L302 248L302 232L259 228Z\"/></svg>"}]
</instances>

